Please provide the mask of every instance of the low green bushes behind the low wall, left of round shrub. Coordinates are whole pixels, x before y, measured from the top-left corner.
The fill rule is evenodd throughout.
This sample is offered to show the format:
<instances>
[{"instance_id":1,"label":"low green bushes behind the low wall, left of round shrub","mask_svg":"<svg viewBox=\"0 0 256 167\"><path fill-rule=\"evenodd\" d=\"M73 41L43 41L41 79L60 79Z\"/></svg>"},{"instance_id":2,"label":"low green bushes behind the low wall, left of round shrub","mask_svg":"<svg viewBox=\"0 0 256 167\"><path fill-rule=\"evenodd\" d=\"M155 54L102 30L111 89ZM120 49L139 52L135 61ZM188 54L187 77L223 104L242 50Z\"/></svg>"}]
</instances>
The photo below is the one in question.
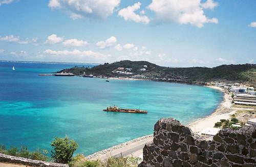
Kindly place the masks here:
<instances>
[{"instance_id":1,"label":"low green bushes behind the low wall, left of round shrub","mask_svg":"<svg viewBox=\"0 0 256 167\"><path fill-rule=\"evenodd\" d=\"M34 160L49 160L48 156L46 156L46 154L48 153L46 150L37 150L30 152L28 148L24 146L21 146L20 149L18 149L17 147L11 147L10 149L6 149L5 146L0 145L0 153Z\"/></svg>"}]
</instances>

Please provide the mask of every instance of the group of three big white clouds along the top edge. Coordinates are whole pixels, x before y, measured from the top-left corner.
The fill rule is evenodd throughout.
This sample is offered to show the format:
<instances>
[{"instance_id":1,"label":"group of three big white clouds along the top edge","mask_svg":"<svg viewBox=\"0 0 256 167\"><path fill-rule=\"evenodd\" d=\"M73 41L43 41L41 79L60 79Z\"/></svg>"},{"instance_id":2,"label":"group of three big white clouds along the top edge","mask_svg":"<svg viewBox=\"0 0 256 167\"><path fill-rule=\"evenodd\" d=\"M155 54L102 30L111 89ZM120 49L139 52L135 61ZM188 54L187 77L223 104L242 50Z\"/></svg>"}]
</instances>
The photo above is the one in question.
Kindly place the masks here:
<instances>
[{"instance_id":1,"label":"group of three big white clouds along the top edge","mask_svg":"<svg viewBox=\"0 0 256 167\"><path fill-rule=\"evenodd\" d=\"M150 23L177 22L190 24L196 27L203 27L205 23L218 23L217 18L208 18L204 10L213 10L218 6L214 0L152 0L151 4L145 7L155 13L151 19L141 10L141 3L137 2L123 9L118 9L120 0L50 0L49 8L62 9L69 13L72 19L98 18L106 19L115 10L118 16L124 20Z\"/></svg>"}]
</instances>

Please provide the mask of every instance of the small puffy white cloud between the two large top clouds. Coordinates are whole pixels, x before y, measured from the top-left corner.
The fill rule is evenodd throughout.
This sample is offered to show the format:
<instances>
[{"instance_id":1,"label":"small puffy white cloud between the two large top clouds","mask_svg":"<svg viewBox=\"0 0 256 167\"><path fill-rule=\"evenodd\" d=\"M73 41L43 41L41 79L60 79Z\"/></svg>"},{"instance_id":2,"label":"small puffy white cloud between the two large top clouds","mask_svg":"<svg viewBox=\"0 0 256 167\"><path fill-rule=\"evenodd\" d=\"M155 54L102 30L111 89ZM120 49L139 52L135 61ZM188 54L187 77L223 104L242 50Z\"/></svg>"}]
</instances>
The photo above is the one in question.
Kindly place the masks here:
<instances>
[{"instance_id":1,"label":"small puffy white cloud between the two large top clouds","mask_svg":"<svg viewBox=\"0 0 256 167\"><path fill-rule=\"evenodd\" d=\"M133 6L129 6L127 8L123 8L119 10L118 16L121 16L124 18L124 20L132 20L135 22L143 22L148 23L150 22L150 19L147 16L142 16L139 14L136 14L135 11L140 9L141 3L135 3ZM142 12L145 13L145 12Z\"/></svg>"}]
</instances>

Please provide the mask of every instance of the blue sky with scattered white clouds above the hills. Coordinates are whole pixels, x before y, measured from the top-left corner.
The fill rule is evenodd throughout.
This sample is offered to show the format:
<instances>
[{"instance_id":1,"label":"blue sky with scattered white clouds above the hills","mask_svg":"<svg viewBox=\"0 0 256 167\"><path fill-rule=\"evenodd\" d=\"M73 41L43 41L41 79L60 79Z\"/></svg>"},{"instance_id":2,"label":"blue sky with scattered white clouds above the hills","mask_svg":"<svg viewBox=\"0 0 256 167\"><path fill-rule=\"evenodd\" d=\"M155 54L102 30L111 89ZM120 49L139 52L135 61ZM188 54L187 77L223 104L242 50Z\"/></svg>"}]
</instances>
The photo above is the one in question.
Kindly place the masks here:
<instances>
[{"instance_id":1,"label":"blue sky with scattered white clouds above the hills","mask_svg":"<svg viewBox=\"0 0 256 167\"><path fill-rule=\"evenodd\" d=\"M254 0L0 0L0 60L255 63Z\"/></svg>"}]
</instances>

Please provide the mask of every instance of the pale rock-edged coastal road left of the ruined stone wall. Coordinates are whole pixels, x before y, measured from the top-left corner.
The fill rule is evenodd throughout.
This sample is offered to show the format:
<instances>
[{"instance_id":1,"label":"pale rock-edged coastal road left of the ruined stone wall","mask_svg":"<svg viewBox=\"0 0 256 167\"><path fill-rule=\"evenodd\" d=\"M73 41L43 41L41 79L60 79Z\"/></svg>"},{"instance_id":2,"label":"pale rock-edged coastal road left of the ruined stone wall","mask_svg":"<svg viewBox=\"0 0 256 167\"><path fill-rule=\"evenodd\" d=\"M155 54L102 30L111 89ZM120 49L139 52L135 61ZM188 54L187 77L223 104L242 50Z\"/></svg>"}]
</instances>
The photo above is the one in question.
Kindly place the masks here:
<instances>
[{"instance_id":1,"label":"pale rock-edged coastal road left of the ruined stone wall","mask_svg":"<svg viewBox=\"0 0 256 167\"><path fill-rule=\"evenodd\" d=\"M136 142L133 142L132 144L123 146L119 149L112 150L106 154L99 155L97 157L93 157L92 159L100 159L102 161L108 159L111 156L119 157L119 156L135 156L135 157L141 157L143 154L143 148L145 144L153 142L153 137L148 137Z\"/></svg>"}]
</instances>

